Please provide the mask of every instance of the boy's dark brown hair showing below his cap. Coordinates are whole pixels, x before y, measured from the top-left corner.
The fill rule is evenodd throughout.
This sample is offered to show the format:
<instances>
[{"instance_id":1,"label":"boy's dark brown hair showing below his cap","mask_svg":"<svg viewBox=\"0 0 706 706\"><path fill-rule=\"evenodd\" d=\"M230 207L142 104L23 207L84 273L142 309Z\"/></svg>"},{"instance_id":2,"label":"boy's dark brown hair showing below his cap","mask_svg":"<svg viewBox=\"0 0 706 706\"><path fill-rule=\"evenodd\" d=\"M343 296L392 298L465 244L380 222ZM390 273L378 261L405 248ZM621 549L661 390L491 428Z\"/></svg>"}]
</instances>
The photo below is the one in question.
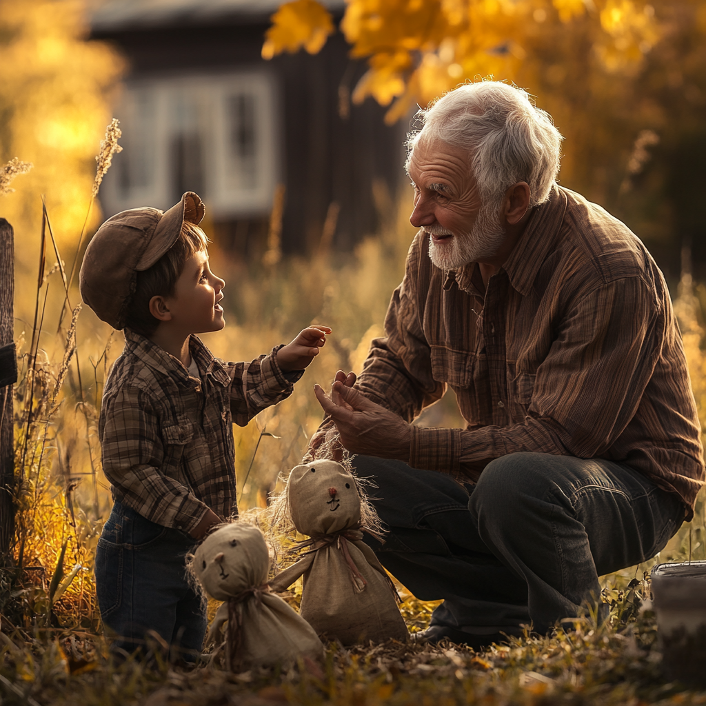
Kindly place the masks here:
<instances>
[{"instance_id":1,"label":"boy's dark brown hair showing below his cap","mask_svg":"<svg viewBox=\"0 0 706 706\"><path fill-rule=\"evenodd\" d=\"M177 242L148 270L137 273L135 293L126 310L125 325L135 333L150 336L160 324L150 313L152 297L172 297L186 261L198 251L206 250L206 234L189 221L184 221Z\"/></svg>"}]
</instances>

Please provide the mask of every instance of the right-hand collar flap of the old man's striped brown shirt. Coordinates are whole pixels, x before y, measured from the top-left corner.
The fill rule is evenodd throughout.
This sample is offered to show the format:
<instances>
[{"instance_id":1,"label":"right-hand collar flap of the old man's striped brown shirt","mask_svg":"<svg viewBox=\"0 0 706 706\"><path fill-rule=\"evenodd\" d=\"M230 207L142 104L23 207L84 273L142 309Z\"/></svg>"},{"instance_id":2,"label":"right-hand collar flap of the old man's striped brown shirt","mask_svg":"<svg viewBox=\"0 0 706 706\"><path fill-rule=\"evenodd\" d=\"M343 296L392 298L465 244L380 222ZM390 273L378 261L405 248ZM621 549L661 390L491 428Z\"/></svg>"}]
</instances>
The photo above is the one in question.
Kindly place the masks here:
<instances>
[{"instance_id":1,"label":"right-hand collar flap of the old man's striped brown shirt","mask_svg":"<svg viewBox=\"0 0 706 706\"><path fill-rule=\"evenodd\" d=\"M510 284L523 297L532 291L539 268L556 242L567 203L564 190L554 184L549 201L535 206L525 232L503 264Z\"/></svg>"}]
</instances>

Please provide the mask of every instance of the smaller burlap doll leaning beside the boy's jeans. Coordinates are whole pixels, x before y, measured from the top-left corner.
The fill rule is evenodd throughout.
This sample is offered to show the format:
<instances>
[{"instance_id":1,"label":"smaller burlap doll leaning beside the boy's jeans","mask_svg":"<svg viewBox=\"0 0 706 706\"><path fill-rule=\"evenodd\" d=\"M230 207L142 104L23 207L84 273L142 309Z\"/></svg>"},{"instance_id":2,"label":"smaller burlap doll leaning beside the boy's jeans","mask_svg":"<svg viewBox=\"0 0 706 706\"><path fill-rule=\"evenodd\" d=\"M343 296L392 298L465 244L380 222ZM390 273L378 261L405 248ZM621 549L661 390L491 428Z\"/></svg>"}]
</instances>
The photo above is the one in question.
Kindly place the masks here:
<instances>
[{"instance_id":1,"label":"smaller burlap doll leaning beside the boy's jeans","mask_svg":"<svg viewBox=\"0 0 706 706\"><path fill-rule=\"evenodd\" d=\"M270 556L263 533L253 525L222 525L203 541L189 564L206 594L224 601L208 630L207 644L226 630L226 664L233 671L249 666L289 666L301 658L320 659L323 645L267 584Z\"/></svg>"}]
</instances>

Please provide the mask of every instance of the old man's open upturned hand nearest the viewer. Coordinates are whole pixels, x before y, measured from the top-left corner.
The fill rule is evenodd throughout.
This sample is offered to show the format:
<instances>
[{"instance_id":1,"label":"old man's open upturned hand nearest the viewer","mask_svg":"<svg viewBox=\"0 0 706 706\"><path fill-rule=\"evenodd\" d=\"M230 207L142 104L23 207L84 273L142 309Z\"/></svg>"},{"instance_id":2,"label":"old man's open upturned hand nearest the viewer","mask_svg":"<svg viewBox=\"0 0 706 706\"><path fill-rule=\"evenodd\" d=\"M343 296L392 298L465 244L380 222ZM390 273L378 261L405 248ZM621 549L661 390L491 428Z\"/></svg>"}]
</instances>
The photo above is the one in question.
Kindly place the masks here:
<instances>
[{"instance_id":1,"label":"old man's open upturned hand nearest the viewer","mask_svg":"<svg viewBox=\"0 0 706 706\"><path fill-rule=\"evenodd\" d=\"M316 399L333 419L341 443L351 453L409 460L409 424L337 379L327 395L314 385Z\"/></svg>"}]
</instances>

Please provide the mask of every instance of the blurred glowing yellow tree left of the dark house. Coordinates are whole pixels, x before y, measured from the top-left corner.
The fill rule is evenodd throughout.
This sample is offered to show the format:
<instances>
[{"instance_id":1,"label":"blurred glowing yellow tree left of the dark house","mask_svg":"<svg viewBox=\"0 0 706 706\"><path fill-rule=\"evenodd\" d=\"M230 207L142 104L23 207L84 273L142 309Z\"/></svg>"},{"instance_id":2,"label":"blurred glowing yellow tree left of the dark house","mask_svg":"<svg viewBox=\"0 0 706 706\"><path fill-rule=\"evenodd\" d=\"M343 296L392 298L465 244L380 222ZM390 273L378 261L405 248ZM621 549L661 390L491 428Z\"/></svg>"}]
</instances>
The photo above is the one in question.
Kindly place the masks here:
<instances>
[{"instance_id":1,"label":"blurred glowing yellow tree left of the dark house","mask_svg":"<svg viewBox=\"0 0 706 706\"><path fill-rule=\"evenodd\" d=\"M0 201L0 215L15 228L18 277L36 270L30 242L38 246L42 193L61 256L71 266L91 197L95 154L110 121L107 97L122 61L105 45L85 41L84 5L0 1L0 164L19 157L35 165L14 181L16 192ZM99 217L96 207L92 221ZM18 316L23 301L18 288Z\"/></svg>"}]
</instances>

